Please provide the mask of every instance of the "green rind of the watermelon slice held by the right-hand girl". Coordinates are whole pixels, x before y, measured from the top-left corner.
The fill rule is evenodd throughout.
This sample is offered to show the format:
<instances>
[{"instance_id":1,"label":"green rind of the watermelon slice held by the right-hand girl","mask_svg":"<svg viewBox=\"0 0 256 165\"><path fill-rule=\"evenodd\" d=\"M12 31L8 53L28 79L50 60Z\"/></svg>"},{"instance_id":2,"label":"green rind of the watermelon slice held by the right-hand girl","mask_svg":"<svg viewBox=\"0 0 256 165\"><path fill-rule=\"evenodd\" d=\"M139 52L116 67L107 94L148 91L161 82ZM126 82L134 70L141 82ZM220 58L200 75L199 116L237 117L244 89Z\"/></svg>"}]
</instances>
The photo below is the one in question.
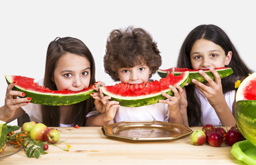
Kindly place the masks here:
<instances>
[{"instance_id":1,"label":"green rind of the watermelon slice held by the right-hand girl","mask_svg":"<svg viewBox=\"0 0 256 165\"><path fill-rule=\"evenodd\" d=\"M217 69L215 68L215 70L218 72L219 76L221 78L225 78L227 76L229 76L230 74L233 74L233 69L230 67L225 67L225 68L221 68L221 69ZM215 76L213 76L213 73L210 72L210 70L206 70L204 71L206 72L206 74L208 74L208 76L210 76L210 78L212 78L213 80L215 80ZM174 72L175 76L180 75L182 72ZM161 69L157 70L157 74L161 77L161 78L165 78L167 75L166 71L163 71ZM200 83L207 83L207 80L201 76L201 74L199 74L198 71L189 71L189 76L188 76L188 84L194 84L192 82L192 79L198 80Z\"/></svg>"}]
</instances>

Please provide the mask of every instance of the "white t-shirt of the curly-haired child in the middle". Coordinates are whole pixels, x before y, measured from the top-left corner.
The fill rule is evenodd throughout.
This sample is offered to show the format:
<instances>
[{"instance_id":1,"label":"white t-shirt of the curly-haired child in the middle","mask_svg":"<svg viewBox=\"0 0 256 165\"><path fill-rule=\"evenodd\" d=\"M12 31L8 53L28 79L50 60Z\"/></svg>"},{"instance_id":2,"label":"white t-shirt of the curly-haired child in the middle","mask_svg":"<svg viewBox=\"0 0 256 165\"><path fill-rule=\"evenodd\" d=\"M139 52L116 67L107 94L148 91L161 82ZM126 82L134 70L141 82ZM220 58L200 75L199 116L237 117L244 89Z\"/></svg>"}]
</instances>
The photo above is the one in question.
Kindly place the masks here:
<instances>
[{"instance_id":1,"label":"white t-shirt of the curly-haired child in the middle","mask_svg":"<svg viewBox=\"0 0 256 165\"><path fill-rule=\"evenodd\" d=\"M90 117L91 115L98 115L97 111L91 111L86 115ZM168 109L168 104L157 103L150 104L142 107L119 107L117 113L115 114L114 122L122 121L152 121L157 120L161 122L169 122L170 111Z\"/></svg>"}]
</instances>

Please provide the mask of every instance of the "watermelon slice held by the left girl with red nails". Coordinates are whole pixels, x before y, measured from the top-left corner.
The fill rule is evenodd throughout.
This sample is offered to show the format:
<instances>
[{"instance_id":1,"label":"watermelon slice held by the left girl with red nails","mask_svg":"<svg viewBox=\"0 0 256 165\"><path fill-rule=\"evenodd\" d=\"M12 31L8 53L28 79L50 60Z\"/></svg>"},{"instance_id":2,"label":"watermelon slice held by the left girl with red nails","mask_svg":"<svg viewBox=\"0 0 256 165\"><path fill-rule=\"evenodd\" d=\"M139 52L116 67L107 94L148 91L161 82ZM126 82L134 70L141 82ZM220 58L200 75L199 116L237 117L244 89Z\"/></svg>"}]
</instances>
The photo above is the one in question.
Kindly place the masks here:
<instances>
[{"instance_id":1,"label":"watermelon slice held by the left girl with red nails","mask_svg":"<svg viewBox=\"0 0 256 165\"><path fill-rule=\"evenodd\" d=\"M23 91L26 97L32 98L30 102L45 105L68 105L75 104L90 98L90 94L94 91L92 85L82 91L52 91L46 87L41 87L34 82L34 78L25 76L8 76L6 82L8 84L17 81L17 85L13 90Z\"/></svg>"}]
</instances>

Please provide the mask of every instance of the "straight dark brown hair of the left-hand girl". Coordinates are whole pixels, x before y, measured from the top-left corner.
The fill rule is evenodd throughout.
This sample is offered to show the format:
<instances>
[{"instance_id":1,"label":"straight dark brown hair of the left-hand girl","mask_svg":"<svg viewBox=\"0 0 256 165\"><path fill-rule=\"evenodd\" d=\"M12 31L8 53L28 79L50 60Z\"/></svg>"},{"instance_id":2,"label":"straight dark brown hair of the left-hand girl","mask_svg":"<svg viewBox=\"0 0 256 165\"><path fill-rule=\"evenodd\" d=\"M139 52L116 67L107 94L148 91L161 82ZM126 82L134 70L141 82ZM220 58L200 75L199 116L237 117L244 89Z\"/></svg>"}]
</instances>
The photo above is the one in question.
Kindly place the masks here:
<instances>
[{"instance_id":1,"label":"straight dark brown hair of the left-hand girl","mask_svg":"<svg viewBox=\"0 0 256 165\"><path fill-rule=\"evenodd\" d=\"M48 45L46 54L46 70L44 75L44 86L51 90L57 90L54 82L54 71L58 59L64 54L71 53L78 56L84 56L90 62L90 85L95 83L95 61L88 47L79 39L64 37L55 39ZM90 97L83 102L74 104L72 108L72 118L75 124L84 126L86 124L86 114L91 111L95 105L93 98ZM59 106L42 105L43 123L48 126L59 126Z\"/></svg>"}]
</instances>

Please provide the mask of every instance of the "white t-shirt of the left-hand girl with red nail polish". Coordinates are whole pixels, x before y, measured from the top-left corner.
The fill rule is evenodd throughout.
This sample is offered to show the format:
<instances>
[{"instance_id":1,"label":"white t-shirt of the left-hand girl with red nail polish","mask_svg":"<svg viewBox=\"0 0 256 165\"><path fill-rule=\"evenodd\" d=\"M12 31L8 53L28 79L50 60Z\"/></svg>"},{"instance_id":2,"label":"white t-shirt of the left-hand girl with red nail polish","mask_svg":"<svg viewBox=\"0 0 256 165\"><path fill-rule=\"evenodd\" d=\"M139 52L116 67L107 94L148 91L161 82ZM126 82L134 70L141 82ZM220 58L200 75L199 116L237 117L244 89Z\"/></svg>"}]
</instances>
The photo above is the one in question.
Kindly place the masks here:
<instances>
[{"instance_id":1,"label":"white t-shirt of the left-hand girl with red nail polish","mask_svg":"<svg viewBox=\"0 0 256 165\"><path fill-rule=\"evenodd\" d=\"M43 79L39 80L38 85L43 86ZM32 98L33 99L33 98ZM43 122L41 113L41 104L28 103L27 105L21 107L30 117L30 121L35 121L37 123ZM75 126L75 124L59 124L59 126Z\"/></svg>"}]
</instances>

